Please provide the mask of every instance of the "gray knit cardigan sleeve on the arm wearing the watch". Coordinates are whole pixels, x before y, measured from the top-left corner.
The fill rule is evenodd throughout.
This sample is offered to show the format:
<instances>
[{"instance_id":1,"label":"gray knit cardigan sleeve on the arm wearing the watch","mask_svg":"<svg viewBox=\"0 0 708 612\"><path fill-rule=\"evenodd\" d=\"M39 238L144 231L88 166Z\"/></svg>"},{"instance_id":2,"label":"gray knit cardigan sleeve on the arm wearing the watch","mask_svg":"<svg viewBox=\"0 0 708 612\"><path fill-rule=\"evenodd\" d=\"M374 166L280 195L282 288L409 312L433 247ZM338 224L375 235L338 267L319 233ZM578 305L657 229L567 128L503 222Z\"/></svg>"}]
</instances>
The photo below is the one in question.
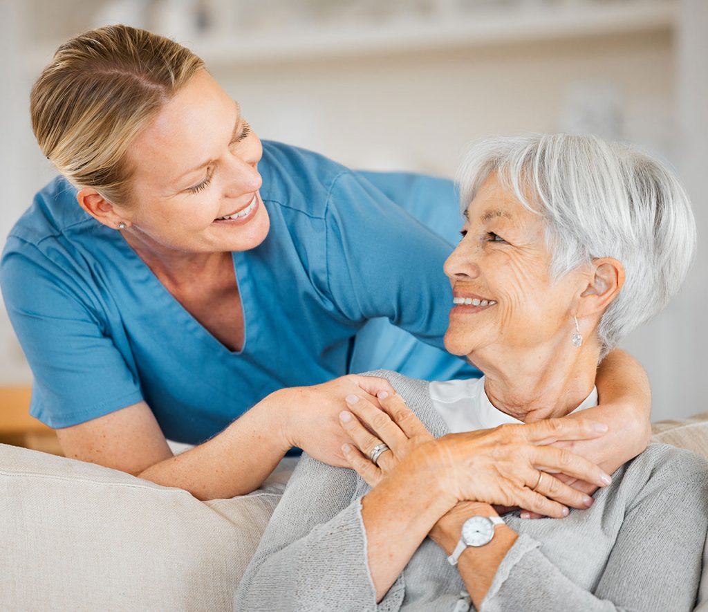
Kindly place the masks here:
<instances>
[{"instance_id":1,"label":"gray knit cardigan sleeve on the arm wearing the watch","mask_svg":"<svg viewBox=\"0 0 708 612\"><path fill-rule=\"evenodd\" d=\"M579 587L544 555L541 543L522 535L501 562L481 611L691 611L704 543L697 534L708 528L708 472L698 457L673 466L682 471L655 468L627 507L595 589Z\"/></svg>"}]
</instances>

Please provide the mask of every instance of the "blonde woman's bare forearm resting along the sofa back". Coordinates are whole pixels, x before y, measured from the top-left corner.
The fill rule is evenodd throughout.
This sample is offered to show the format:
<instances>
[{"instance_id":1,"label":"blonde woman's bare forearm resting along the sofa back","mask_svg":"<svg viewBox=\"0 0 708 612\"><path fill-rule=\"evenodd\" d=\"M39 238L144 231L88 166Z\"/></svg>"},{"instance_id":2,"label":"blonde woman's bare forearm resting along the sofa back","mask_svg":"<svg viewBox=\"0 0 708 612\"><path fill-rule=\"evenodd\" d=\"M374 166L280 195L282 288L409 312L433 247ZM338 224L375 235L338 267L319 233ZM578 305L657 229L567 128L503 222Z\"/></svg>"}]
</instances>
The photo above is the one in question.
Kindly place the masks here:
<instances>
[{"instance_id":1,"label":"blonde woman's bare forearm resting along the sofa back","mask_svg":"<svg viewBox=\"0 0 708 612\"><path fill-rule=\"evenodd\" d=\"M274 402L266 397L222 433L191 450L138 474L165 487L178 487L206 499L227 499L258 489L287 452L273 426Z\"/></svg>"}]
</instances>

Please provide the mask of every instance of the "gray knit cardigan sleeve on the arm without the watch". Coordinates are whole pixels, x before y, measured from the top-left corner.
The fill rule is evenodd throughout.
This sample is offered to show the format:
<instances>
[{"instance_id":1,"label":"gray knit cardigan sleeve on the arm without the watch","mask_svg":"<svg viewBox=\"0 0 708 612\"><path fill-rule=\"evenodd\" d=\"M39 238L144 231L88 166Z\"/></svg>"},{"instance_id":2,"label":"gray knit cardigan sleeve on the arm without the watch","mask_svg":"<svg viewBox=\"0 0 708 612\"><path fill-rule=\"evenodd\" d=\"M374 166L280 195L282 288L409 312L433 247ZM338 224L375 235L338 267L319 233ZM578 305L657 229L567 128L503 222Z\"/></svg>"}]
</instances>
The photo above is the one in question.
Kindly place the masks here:
<instances>
[{"instance_id":1,"label":"gray knit cardigan sleeve on the arm without the watch","mask_svg":"<svg viewBox=\"0 0 708 612\"><path fill-rule=\"evenodd\" d=\"M357 485L353 470L302 455L236 591L234 610L400 608L400 577L376 603Z\"/></svg>"}]
</instances>

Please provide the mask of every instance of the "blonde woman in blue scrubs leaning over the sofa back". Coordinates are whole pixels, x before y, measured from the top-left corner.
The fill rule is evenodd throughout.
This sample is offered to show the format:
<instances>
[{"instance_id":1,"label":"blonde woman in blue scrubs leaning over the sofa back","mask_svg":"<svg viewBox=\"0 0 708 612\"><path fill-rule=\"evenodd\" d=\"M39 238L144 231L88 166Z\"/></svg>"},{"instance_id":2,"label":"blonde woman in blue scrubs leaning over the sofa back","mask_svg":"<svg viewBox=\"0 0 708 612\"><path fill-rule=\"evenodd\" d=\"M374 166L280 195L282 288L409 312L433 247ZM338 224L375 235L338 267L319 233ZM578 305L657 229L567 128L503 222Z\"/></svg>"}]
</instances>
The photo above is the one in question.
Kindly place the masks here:
<instances>
[{"instance_id":1,"label":"blonde woman in blue scrubs leaning over the sofa back","mask_svg":"<svg viewBox=\"0 0 708 612\"><path fill-rule=\"evenodd\" d=\"M35 378L31 412L67 456L232 497L292 446L346 465L339 398L391 390L351 372L476 372L442 351L449 181L261 142L198 57L127 26L59 47L31 115L61 176L12 229L2 293ZM447 241L404 208L449 227ZM433 346L396 328L360 341L381 318ZM646 446L649 392L634 360L607 364L595 416L610 434L576 450L619 461ZM166 438L197 446L175 457Z\"/></svg>"}]
</instances>

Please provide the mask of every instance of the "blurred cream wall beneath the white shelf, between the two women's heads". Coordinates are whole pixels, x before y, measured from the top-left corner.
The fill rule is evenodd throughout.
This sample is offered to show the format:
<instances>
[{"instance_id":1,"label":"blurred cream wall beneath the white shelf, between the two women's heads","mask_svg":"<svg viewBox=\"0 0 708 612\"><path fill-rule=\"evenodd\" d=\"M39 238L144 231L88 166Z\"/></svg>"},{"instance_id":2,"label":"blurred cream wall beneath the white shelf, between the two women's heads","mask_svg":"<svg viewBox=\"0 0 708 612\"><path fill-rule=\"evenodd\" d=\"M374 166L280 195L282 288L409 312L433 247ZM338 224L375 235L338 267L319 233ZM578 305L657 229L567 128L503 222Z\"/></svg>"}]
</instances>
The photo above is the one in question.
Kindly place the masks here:
<instances>
[{"instance_id":1,"label":"blurred cream wall beneath the white shelf, between the two women's heads","mask_svg":"<svg viewBox=\"0 0 708 612\"><path fill-rule=\"evenodd\" d=\"M666 31L212 73L262 137L351 166L449 176L479 135L564 128L578 89L616 94L622 115L616 136L664 153L671 145L673 44Z\"/></svg>"}]
</instances>

